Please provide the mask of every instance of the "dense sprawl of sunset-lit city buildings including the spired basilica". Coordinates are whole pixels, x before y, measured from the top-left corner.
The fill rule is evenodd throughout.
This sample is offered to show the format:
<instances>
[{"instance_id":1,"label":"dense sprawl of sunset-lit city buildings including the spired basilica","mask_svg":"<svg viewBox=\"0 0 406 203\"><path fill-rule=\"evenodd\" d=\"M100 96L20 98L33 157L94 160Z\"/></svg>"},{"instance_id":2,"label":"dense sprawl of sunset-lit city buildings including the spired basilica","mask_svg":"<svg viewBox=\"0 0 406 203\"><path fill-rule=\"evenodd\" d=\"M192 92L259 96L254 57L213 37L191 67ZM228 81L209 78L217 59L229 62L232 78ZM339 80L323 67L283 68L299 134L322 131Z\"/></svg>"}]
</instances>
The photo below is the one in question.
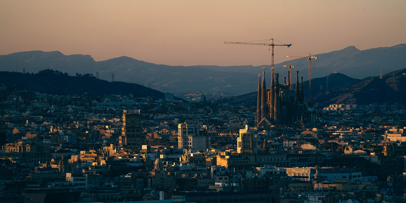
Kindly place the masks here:
<instances>
[{"instance_id":1,"label":"dense sprawl of sunset-lit city buildings including the spired basilica","mask_svg":"<svg viewBox=\"0 0 406 203\"><path fill-rule=\"evenodd\" d=\"M3 86L0 201L406 201L402 105L315 109L275 75L257 107Z\"/></svg>"}]
</instances>

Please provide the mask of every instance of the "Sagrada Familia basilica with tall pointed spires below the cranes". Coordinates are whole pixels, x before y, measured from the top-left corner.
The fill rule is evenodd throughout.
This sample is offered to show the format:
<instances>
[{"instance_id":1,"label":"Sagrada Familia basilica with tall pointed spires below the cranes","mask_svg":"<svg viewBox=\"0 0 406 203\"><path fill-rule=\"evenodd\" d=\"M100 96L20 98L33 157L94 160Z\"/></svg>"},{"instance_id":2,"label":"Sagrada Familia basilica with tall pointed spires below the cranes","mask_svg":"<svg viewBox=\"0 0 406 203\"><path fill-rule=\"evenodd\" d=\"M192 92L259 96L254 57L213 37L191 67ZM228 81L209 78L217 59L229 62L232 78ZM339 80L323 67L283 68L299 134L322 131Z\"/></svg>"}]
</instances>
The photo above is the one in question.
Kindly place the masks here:
<instances>
[{"instance_id":1,"label":"Sagrada Familia basilica with tall pointed spires below the cranes","mask_svg":"<svg viewBox=\"0 0 406 203\"><path fill-rule=\"evenodd\" d=\"M304 103L303 77L296 71L296 87L292 90L290 81L290 71L288 71L288 81L284 78L283 84L279 83L279 74L274 77L272 70L272 80L270 89L266 89L265 68L262 68L261 75L258 75L258 99L257 111L255 114L255 124L257 126L278 126L286 125L291 127L315 127L316 115L313 105ZM275 79L274 79L275 78Z\"/></svg>"}]
</instances>

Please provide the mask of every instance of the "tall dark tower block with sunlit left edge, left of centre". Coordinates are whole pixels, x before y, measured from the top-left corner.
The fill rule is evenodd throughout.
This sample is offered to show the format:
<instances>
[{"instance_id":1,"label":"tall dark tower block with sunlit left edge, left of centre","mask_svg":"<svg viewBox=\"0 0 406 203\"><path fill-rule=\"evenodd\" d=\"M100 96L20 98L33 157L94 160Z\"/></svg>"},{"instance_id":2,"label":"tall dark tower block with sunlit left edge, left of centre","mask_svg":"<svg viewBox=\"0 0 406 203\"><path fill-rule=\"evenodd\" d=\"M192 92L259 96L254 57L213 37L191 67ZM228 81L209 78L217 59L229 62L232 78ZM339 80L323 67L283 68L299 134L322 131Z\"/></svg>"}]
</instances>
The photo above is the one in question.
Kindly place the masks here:
<instances>
[{"instance_id":1,"label":"tall dark tower block with sunlit left edge, left of centre","mask_svg":"<svg viewBox=\"0 0 406 203\"><path fill-rule=\"evenodd\" d=\"M145 143L145 137L142 136L143 128L141 126L141 115L139 112L124 112L123 127L119 145L127 148L141 150Z\"/></svg>"}]
</instances>

